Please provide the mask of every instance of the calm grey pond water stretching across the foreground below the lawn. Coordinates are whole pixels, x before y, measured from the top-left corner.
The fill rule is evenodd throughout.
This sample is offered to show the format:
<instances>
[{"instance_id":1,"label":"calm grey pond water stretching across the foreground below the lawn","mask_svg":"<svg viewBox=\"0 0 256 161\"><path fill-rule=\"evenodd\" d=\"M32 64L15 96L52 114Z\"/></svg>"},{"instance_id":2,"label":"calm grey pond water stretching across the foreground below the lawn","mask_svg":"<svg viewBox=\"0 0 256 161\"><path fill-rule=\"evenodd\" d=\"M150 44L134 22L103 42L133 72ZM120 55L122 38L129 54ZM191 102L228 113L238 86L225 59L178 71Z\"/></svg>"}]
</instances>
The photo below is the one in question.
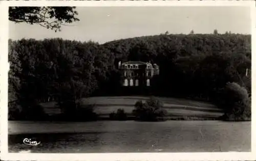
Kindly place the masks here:
<instances>
[{"instance_id":1,"label":"calm grey pond water stretching across the foreground below the lawn","mask_svg":"<svg viewBox=\"0 0 256 161\"><path fill-rule=\"evenodd\" d=\"M251 122L9 121L9 152L227 152L251 150ZM40 142L23 143L25 138Z\"/></svg>"}]
</instances>

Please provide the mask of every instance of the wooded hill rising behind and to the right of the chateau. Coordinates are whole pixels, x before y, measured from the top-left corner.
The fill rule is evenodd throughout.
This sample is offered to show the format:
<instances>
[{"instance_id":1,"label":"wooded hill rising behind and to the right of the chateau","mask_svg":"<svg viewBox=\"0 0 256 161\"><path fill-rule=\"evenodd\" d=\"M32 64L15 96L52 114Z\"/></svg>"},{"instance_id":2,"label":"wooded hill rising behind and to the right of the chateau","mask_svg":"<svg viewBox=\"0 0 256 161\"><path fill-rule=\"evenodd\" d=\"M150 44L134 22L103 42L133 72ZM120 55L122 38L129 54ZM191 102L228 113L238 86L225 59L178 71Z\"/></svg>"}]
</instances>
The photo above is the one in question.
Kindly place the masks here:
<instances>
[{"instance_id":1,"label":"wooded hill rising behind and to the right of the chateau","mask_svg":"<svg viewBox=\"0 0 256 161\"><path fill-rule=\"evenodd\" d=\"M117 61L151 61L160 66L155 92L163 96L210 97L227 82L250 91L250 35L157 35L104 44Z\"/></svg>"}]
</instances>

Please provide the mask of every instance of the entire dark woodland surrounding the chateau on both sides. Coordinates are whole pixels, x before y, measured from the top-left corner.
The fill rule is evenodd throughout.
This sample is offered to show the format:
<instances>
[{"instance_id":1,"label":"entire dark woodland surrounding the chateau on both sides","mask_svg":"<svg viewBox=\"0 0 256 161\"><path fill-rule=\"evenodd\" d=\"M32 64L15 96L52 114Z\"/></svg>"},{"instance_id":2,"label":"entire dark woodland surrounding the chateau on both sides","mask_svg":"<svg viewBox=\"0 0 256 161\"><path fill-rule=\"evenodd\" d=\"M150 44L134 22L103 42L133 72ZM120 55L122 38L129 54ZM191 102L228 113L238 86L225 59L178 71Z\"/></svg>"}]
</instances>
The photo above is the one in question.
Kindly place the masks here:
<instances>
[{"instance_id":1,"label":"entire dark woodland surrounding the chateau on both sides","mask_svg":"<svg viewBox=\"0 0 256 161\"><path fill-rule=\"evenodd\" d=\"M152 95L215 101L228 82L251 91L250 35L161 34L102 45L9 40L9 61L9 100L17 100L24 116L42 101L57 101L63 113L71 114L82 97L126 94L120 88L119 61L159 65Z\"/></svg>"}]
</instances>

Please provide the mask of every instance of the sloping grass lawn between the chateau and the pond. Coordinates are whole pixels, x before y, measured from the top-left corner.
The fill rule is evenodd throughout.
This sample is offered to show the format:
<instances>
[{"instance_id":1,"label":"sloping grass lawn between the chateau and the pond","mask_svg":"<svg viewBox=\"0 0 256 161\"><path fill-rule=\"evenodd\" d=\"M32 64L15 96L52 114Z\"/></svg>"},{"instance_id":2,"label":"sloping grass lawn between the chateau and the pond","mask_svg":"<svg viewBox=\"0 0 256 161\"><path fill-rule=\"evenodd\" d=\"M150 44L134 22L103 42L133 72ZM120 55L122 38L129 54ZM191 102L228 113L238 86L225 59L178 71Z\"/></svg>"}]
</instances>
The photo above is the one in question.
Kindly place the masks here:
<instances>
[{"instance_id":1,"label":"sloping grass lawn between the chateau and the pond","mask_svg":"<svg viewBox=\"0 0 256 161\"><path fill-rule=\"evenodd\" d=\"M146 100L143 96L116 96L116 97L89 97L84 98L84 104L95 104L95 112L101 118L108 118L109 114L117 109L131 115L134 110L134 104L138 100ZM215 105L180 98L158 97L164 103L164 109L167 110L167 119L169 120L216 120L223 115L222 110ZM49 115L59 114L60 110L55 108L55 102L41 103L45 112Z\"/></svg>"}]
</instances>

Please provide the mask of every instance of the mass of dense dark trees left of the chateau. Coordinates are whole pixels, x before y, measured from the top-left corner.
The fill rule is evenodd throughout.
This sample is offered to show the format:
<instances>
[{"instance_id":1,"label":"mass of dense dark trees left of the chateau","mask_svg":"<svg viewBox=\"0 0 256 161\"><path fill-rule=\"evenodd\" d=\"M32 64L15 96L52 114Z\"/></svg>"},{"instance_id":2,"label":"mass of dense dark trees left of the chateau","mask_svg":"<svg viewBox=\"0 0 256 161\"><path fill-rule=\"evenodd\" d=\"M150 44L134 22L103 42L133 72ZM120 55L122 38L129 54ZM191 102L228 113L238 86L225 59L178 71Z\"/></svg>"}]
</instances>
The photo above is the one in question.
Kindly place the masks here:
<instances>
[{"instance_id":1,"label":"mass of dense dark trees left of the chateau","mask_svg":"<svg viewBox=\"0 0 256 161\"><path fill-rule=\"evenodd\" d=\"M49 100L71 115L82 97L90 96L99 82L108 82L116 72L107 50L94 42L10 40L9 61L9 100L22 107L22 118L37 113L39 102Z\"/></svg>"}]
</instances>

